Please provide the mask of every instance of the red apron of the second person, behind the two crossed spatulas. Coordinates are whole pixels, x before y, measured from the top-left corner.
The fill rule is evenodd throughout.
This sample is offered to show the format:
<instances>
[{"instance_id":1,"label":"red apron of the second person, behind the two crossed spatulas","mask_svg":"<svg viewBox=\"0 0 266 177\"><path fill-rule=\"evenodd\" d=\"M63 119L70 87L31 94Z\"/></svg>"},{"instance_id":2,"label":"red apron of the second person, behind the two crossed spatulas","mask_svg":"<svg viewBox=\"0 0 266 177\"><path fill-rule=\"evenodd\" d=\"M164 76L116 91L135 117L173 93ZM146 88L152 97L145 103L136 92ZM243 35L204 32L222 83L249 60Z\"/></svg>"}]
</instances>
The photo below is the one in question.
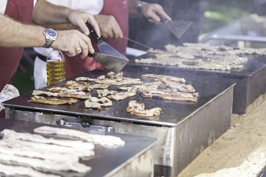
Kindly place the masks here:
<instances>
[{"instance_id":1,"label":"red apron of the second person, behind the two crossed spatulas","mask_svg":"<svg viewBox=\"0 0 266 177\"><path fill-rule=\"evenodd\" d=\"M128 37L128 0L105 0L103 9L100 12L102 15L112 15L117 20L123 35ZM127 40L107 38L104 39L109 45L126 55ZM95 52L99 52L97 45L92 39L92 45ZM91 57L84 60L80 55L75 57L68 57L65 55L65 76L66 78L76 76L94 69L105 69L100 63Z\"/></svg>"}]
</instances>

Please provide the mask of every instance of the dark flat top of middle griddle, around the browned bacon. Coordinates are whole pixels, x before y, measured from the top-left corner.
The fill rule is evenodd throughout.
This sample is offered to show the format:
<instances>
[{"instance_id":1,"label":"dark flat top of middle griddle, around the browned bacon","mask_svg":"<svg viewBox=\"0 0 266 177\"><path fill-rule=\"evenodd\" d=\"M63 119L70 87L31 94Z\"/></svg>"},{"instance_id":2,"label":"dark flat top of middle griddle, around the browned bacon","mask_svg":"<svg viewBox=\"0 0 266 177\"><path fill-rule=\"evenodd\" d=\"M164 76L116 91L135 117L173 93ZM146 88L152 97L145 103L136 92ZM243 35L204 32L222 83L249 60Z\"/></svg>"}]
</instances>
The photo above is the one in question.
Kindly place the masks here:
<instances>
[{"instance_id":1,"label":"dark flat top of middle griddle, around the browned bacon","mask_svg":"<svg viewBox=\"0 0 266 177\"><path fill-rule=\"evenodd\" d=\"M92 71L82 74L81 76L98 77L102 74L107 74L103 71ZM124 72L125 77L140 78L144 82L151 82L154 79L142 77L140 73ZM196 89L196 92L200 93L200 97L197 103L190 102L178 102L178 101L166 101L155 98L142 98L138 92L135 97L128 98L123 101L113 102L113 106L104 110L86 109L84 100L79 100L78 103L72 105L47 105L41 103L27 103L30 99L31 92L20 97L3 103L6 107L22 108L30 111L48 111L60 114L70 114L79 116L92 116L101 117L106 119L126 120L141 123L151 123L165 126L176 126L185 118L193 115L204 107L205 104L213 101L215 97L218 97L227 89L230 89L234 83L225 82L220 80L208 80L208 79L194 79L191 75L183 75L186 79L186 83L192 83ZM74 78L72 78L74 79ZM63 85L65 81L58 82L56 85ZM117 86L109 87L109 90L116 90ZM45 90L45 89L43 89ZM96 91L93 91L92 96L97 96ZM154 117L138 117L130 115L126 112L129 100L136 100L139 103L144 103L146 109L161 107L163 113L160 116Z\"/></svg>"}]
</instances>

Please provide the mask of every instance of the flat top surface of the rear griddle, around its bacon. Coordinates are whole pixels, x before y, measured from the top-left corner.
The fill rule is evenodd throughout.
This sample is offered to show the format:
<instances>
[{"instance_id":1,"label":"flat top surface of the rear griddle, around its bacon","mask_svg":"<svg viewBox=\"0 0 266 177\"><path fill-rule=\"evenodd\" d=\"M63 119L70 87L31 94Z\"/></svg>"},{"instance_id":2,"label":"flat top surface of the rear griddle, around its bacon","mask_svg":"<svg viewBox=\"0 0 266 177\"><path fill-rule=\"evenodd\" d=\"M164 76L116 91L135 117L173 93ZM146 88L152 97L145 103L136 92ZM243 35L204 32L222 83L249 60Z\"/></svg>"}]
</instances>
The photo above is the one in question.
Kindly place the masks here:
<instances>
[{"instance_id":1,"label":"flat top surface of the rear griddle, around its bacon","mask_svg":"<svg viewBox=\"0 0 266 177\"><path fill-rule=\"evenodd\" d=\"M207 70L207 69L189 69L189 68L178 68L178 66L170 66L170 65L157 65L157 64L141 64L141 63L135 63L135 59L140 58L151 58L153 55L151 54L145 54L142 56L139 56L137 58L131 58L129 59L129 63L126 65L126 67L123 70L127 70L128 68L134 68L134 67L142 67L142 68L150 68L151 70L155 68L161 68L162 70L168 69L168 70L183 70L183 71L195 71L195 72L212 72L212 73L224 73L224 74L230 74L230 75L242 75L242 76L250 76L257 70L261 69L262 67L265 67L266 65L266 55L241 55L243 57L247 57L248 61L244 64L243 69L231 69L231 70ZM162 58L163 60L163 58Z\"/></svg>"}]
</instances>

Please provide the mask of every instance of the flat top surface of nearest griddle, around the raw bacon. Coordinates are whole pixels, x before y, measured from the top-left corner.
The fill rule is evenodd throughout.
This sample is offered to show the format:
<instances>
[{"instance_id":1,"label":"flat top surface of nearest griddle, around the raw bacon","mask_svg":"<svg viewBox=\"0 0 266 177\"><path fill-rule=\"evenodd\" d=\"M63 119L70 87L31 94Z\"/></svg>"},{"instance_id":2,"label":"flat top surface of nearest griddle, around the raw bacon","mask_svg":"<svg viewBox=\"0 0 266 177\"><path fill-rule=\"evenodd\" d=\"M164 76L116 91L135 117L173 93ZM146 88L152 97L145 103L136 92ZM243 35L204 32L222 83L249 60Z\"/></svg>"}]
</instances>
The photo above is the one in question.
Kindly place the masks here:
<instances>
[{"instance_id":1,"label":"flat top surface of nearest griddle, around the raw bacon","mask_svg":"<svg viewBox=\"0 0 266 177\"><path fill-rule=\"evenodd\" d=\"M17 132L29 132L33 134L33 129L39 126L55 126L47 125L42 123L19 121L14 119L3 119L0 118L0 131L5 128L13 129ZM56 126L60 127L60 126ZM63 128L67 128L62 126ZM80 177L99 177L105 176L107 174L112 174L123 168L125 164L133 160L133 158L138 157L140 154L148 150L156 142L155 138L138 137L131 135L122 134L111 134L106 133L106 135L112 135L120 137L126 142L124 147L118 148L103 148L100 146L95 147L95 156L89 160L82 160L81 162L91 166L92 170L88 173L74 173L71 171L60 172L61 176L80 176ZM53 137L53 136L51 136Z\"/></svg>"}]
</instances>

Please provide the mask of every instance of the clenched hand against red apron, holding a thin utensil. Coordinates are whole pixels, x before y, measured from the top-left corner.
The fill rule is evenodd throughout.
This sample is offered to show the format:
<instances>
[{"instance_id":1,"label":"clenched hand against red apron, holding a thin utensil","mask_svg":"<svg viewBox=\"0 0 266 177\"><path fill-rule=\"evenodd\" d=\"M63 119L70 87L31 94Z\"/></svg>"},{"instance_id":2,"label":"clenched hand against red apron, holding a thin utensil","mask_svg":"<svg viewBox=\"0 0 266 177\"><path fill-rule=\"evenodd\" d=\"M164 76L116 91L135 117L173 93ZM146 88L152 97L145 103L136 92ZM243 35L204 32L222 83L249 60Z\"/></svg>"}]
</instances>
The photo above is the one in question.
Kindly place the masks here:
<instances>
[{"instance_id":1,"label":"clenched hand against red apron, holding a thin utensil","mask_svg":"<svg viewBox=\"0 0 266 177\"><path fill-rule=\"evenodd\" d=\"M116 21L115 17L111 15L95 15L101 36L104 38L121 38L123 37L123 32Z\"/></svg>"}]
</instances>

